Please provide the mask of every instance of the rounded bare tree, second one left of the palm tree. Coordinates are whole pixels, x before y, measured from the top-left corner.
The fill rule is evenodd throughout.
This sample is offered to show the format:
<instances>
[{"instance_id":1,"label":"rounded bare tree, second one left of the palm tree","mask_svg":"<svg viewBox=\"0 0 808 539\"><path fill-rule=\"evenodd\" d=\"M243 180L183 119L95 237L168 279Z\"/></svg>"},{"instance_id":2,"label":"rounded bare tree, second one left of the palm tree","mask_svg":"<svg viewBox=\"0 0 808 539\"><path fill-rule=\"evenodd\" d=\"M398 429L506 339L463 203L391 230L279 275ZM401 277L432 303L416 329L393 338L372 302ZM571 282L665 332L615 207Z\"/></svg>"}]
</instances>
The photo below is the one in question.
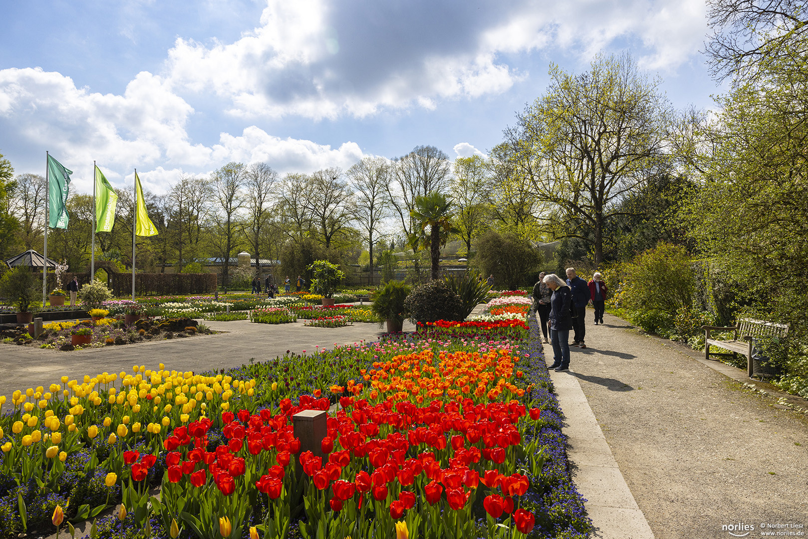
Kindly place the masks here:
<instances>
[{"instance_id":1,"label":"rounded bare tree, second one left of the palm tree","mask_svg":"<svg viewBox=\"0 0 808 539\"><path fill-rule=\"evenodd\" d=\"M351 192L339 168L314 172L309 176L308 184L305 208L311 214L323 245L330 249L335 239L347 233L348 224L353 220Z\"/></svg>"}]
</instances>

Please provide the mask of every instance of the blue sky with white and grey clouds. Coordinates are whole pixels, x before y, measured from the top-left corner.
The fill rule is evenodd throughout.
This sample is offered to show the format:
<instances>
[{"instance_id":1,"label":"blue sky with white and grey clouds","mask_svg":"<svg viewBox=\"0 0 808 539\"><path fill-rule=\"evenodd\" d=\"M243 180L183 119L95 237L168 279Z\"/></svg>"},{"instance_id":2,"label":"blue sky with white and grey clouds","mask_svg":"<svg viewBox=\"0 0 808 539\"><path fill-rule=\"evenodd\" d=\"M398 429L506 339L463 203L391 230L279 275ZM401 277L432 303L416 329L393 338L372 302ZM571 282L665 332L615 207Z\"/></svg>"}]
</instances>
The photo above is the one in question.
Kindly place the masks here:
<instances>
[{"instance_id":1,"label":"blue sky with white and grey clouds","mask_svg":"<svg viewBox=\"0 0 808 539\"><path fill-rule=\"evenodd\" d=\"M0 19L0 154L45 150L92 192L181 173L347 169L434 145L486 154L549 65L630 53L677 108L713 107L704 0L27 0ZM189 7L191 6L191 7Z\"/></svg>"}]
</instances>

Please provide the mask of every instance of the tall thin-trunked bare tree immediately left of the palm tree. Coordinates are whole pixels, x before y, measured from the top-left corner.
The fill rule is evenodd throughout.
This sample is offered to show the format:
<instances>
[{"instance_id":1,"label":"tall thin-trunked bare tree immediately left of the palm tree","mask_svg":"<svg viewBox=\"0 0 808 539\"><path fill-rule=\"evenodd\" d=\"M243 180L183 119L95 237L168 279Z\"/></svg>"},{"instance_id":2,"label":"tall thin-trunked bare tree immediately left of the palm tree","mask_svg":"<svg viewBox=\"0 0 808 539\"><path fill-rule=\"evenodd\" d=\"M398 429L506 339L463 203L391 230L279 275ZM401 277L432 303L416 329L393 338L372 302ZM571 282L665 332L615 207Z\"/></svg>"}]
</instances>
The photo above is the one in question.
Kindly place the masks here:
<instances>
[{"instance_id":1,"label":"tall thin-trunked bare tree immediately left of the palm tree","mask_svg":"<svg viewBox=\"0 0 808 539\"><path fill-rule=\"evenodd\" d=\"M356 215L360 227L368 234L370 272L373 276L373 233L390 208L389 163L385 158L364 158L347 171L351 187L355 190Z\"/></svg>"}]
</instances>

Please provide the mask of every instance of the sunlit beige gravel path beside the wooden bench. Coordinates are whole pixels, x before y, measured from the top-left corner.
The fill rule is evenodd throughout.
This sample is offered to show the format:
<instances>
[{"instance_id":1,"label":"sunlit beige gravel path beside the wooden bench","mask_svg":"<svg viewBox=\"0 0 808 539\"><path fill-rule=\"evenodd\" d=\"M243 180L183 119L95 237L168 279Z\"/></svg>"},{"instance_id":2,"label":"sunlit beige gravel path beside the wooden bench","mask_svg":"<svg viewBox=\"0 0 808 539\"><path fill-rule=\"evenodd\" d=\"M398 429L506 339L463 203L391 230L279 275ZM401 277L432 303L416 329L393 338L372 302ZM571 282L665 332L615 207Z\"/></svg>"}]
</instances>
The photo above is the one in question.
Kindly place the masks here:
<instances>
[{"instance_id":1,"label":"sunlit beige gravel path beside the wooden bench","mask_svg":"<svg viewBox=\"0 0 808 539\"><path fill-rule=\"evenodd\" d=\"M594 326L587 314L588 348L571 348L568 374L654 536L732 537L726 526L742 524L735 537L808 537L808 418L743 390L699 352L604 319Z\"/></svg>"}]
</instances>

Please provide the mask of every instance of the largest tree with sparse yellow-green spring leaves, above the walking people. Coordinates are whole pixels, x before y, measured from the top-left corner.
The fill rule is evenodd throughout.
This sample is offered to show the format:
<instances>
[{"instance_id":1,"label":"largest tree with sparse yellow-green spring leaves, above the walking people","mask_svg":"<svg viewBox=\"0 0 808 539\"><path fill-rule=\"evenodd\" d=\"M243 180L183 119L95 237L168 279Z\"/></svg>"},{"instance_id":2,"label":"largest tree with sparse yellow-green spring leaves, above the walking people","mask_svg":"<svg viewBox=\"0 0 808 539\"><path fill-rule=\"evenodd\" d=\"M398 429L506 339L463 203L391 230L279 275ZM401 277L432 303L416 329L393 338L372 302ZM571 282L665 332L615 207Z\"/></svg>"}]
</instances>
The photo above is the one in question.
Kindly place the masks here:
<instances>
[{"instance_id":1,"label":"largest tree with sparse yellow-green spring leaves, above the walking people","mask_svg":"<svg viewBox=\"0 0 808 539\"><path fill-rule=\"evenodd\" d=\"M551 205L544 225L557 238L591 241L598 267L614 203L667 171L671 109L627 55L597 57L584 74L557 65L549 74L545 95L507 131L507 156Z\"/></svg>"}]
</instances>

